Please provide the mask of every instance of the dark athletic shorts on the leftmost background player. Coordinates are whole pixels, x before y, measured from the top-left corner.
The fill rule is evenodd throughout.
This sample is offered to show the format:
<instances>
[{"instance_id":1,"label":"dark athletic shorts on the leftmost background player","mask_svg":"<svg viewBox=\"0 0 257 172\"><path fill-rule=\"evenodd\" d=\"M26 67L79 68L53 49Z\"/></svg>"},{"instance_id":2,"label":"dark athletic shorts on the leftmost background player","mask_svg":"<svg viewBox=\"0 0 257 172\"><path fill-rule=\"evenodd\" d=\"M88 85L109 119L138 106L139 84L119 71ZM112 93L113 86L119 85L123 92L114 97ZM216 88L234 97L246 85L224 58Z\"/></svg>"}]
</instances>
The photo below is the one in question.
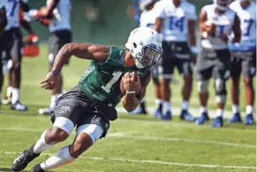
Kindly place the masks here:
<instances>
[{"instance_id":1,"label":"dark athletic shorts on the leftmost background player","mask_svg":"<svg viewBox=\"0 0 257 172\"><path fill-rule=\"evenodd\" d=\"M21 60L22 57L22 34L19 27L12 27L4 31L0 38L1 59Z\"/></svg>"}]
</instances>

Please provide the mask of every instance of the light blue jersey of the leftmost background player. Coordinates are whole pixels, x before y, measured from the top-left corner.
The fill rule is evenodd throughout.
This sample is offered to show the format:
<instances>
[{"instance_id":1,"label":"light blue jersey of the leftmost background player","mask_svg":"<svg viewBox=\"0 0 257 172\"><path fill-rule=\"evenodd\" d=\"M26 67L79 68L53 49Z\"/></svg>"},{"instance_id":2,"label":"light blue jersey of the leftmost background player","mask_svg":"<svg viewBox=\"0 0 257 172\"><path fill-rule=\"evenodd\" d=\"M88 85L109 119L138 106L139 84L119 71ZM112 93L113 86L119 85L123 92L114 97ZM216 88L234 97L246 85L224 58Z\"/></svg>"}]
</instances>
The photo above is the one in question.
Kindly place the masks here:
<instances>
[{"instance_id":1,"label":"light blue jersey of the leftmost background player","mask_svg":"<svg viewBox=\"0 0 257 172\"><path fill-rule=\"evenodd\" d=\"M12 27L20 27L20 0L6 0L4 7L7 17L7 26L4 30L9 30Z\"/></svg>"}]
</instances>

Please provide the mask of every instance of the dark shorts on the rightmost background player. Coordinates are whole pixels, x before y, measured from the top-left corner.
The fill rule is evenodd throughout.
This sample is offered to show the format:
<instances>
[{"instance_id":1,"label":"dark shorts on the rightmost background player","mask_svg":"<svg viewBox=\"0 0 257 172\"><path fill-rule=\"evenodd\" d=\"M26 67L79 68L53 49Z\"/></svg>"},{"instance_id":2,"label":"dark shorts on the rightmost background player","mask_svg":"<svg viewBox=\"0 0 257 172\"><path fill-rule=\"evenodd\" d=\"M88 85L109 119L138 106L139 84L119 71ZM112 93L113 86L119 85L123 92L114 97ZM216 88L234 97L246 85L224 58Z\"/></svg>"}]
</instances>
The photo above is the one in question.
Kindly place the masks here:
<instances>
[{"instance_id":1,"label":"dark shorts on the rightmost background player","mask_svg":"<svg viewBox=\"0 0 257 172\"><path fill-rule=\"evenodd\" d=\"M231 52L231 77L253 78L256 74L256 51Z\"/></svg>"}]
</instances>

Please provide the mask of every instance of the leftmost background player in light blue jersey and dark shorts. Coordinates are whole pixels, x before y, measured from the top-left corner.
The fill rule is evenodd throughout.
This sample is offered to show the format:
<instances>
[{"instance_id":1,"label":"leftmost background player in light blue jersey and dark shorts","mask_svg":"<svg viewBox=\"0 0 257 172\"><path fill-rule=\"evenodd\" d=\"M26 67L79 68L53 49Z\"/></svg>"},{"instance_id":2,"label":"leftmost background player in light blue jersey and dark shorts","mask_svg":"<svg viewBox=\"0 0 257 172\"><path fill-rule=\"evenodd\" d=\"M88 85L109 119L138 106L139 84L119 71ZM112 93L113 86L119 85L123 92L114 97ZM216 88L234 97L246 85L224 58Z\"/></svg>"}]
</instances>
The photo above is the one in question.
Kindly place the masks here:
<instances>
[{"instance_id":1,"label":"leftmost background player in light blue jersey and dark shorts","mask_svg":"<svg viewBox=\"0 0 257 172\"><path fill-rule=\"evenodd\" d=\"M9 0L5 2L8 24L4 29L1 38L2 51L7 59L12 59L10 69L10 86L12 87L12 109L25 111L28 109L20 103L20 82L21 82L21 59L22 59L22 35L20 32L20 6L24 4L20 0ZM3 80L0 84L3 85Z\"/></svg>"}]
</instances>

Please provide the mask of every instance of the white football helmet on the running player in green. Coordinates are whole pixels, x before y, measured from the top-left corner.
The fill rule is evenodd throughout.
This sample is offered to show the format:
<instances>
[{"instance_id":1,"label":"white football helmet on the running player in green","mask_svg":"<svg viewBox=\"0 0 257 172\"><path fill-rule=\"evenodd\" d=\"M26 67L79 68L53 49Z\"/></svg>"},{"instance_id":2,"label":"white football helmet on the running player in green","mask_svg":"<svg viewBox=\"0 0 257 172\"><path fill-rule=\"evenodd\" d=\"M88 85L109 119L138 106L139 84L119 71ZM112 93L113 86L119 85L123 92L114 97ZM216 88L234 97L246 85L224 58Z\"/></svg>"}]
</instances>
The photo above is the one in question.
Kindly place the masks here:
<instances>
[{"instance_id":1,"label":"white football helmet on the running player in green","mask_svg":"<svg viewBox=\"0 0 257 172\"><path fill-rule=\"evenodd\" d=\"M125 47L131 51L136 66L149 71L158 66L158 61L163 54L161 36L149 27L135 28L125 43Z\"/></svg>"}]
</instances>

